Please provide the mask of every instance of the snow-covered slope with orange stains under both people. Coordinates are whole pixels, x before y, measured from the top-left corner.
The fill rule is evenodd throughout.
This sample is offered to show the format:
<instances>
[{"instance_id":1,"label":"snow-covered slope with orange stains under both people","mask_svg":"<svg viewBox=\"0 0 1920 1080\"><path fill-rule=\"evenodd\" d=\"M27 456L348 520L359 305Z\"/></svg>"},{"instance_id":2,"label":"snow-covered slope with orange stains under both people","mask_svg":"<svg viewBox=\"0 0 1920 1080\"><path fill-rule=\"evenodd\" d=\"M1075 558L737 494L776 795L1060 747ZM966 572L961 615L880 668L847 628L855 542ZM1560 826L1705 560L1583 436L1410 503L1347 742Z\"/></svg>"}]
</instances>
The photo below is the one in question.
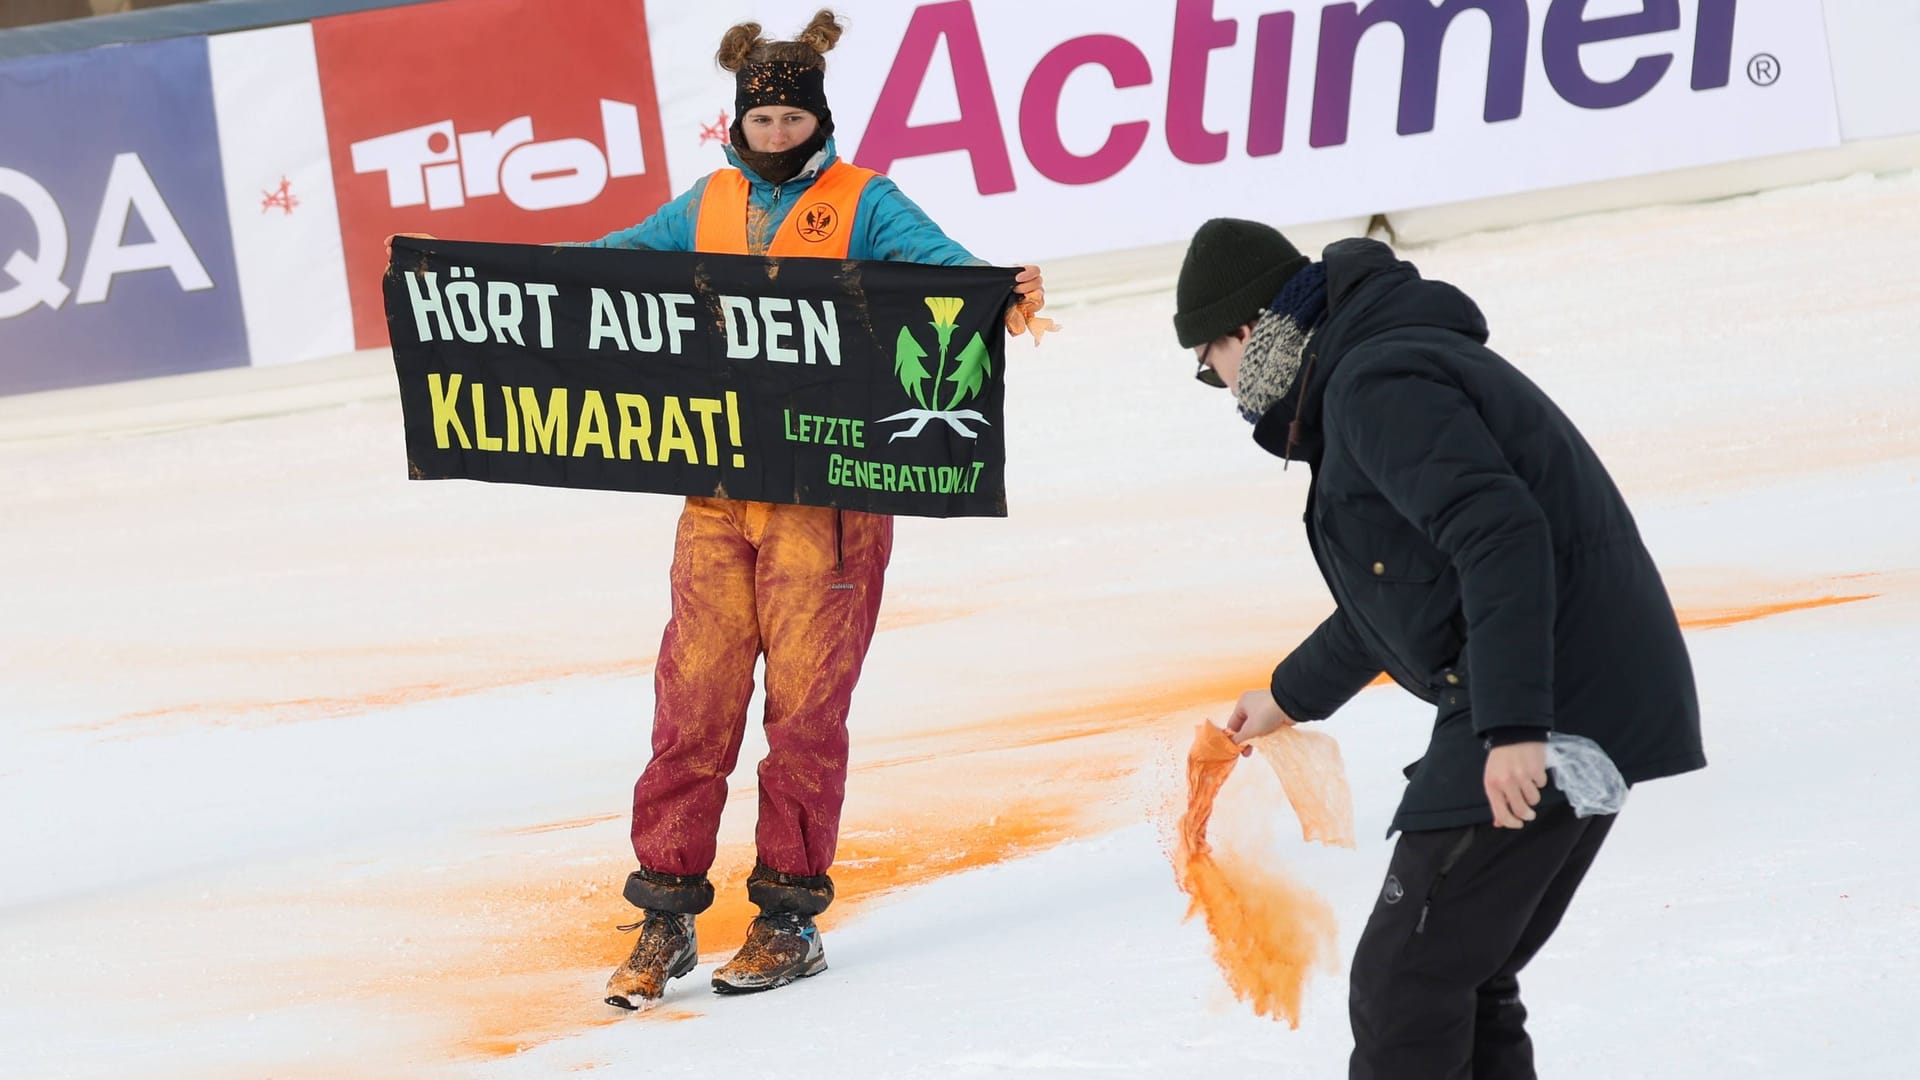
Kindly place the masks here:
<instances>
[{"instance_id":1,"label":"snow-covered slope with orange stains under both people","mask_svg":"<svg viewBox=\"0 0 1920 1080\"><path fill-rule=\"evenodd\" d=\"M1546 1076L1920 1076L1914 250L1891 175L1409 252L1613 467L1705 709L1713 765L1634 792L1526 972ZM405 480L384 354L0 400L0 1074L1344 1074L1344 976L1252 1017L1167 865L1192 724L1329 609L1177 265L1050 267L1012 517L900 521L831 970L637 1017L599 988L674 500ZM1325 728L1357 851L1252 765L1221 798L1342 957L1427 723L1380 688Z\"/></svg>"}]
</instances>

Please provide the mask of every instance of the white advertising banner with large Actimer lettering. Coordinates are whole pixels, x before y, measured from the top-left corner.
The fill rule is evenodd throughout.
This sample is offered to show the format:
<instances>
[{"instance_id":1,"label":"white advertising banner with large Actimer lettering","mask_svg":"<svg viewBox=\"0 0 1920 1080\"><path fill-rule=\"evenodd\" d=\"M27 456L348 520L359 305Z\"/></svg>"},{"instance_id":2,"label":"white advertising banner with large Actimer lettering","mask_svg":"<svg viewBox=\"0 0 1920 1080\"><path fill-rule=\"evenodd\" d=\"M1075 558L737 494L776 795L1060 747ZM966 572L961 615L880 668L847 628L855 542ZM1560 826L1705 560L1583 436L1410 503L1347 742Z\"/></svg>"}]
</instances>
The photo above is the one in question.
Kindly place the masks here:
<instances>
[{"instance_id":1,"label":"white advertising banner with large Actimer lettering","mask_svg":"<svg viewBox=\"0 0 1920 1080\"><path fill-rule=\"evenodd\" d=\"M724 163L720 35L649 4L676 190ZM995 261L1834 146L1820 0L843 0L837 144Z\"/></svg>"}]
</instances>

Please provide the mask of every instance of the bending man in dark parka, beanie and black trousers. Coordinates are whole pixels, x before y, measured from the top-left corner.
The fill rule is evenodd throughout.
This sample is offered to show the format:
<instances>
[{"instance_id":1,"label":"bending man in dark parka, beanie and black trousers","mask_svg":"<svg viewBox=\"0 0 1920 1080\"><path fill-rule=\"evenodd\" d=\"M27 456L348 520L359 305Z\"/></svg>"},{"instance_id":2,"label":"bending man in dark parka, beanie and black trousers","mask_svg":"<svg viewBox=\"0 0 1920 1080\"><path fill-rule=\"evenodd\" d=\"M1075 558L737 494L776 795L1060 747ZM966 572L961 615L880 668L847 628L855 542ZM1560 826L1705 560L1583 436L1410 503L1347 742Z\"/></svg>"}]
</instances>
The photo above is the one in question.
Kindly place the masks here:
<instances>
[{"instance_id":1,"label":"bending man in dark parka, beanie and black trousers","mask_svg":"<svg viewBox=\"0 0 1920 1080\"><path fill-rule=\"evenodd\" d=\"M1240 698L1246 742L1332 715L1382 671L1434 705L1354 955L1354 1080L1534 1076L1517 974L1613 817L1548 776L1553 732L1628 784L1705 767L1667 586L1572 423L1486 348L1457 288L1373 240L1309 261L1235 219L1187 250L1173 327L1254 440L1313 471L1334 611Z\"/></svg>"}]
</instances>

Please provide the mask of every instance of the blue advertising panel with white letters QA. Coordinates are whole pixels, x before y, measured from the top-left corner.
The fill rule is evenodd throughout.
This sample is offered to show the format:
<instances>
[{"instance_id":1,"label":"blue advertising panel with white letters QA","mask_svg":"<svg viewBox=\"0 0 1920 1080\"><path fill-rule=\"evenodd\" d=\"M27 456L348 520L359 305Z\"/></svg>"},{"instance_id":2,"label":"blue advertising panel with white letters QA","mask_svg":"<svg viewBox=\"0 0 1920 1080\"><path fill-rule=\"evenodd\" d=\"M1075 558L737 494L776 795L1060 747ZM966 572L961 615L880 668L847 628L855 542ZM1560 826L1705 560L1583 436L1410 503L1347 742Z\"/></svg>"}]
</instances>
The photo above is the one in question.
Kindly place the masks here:
<instances>
[{"instance_id":1,"label":"blue advertising panel with white letters QA","mask_svg":"<svg viewBox=\"0 0 1920 1080\"><path fill-rule=\"evenodd\" d=\"M207 40L0 63L0 394L246 361Z\"/></svg>"}]
</instances>

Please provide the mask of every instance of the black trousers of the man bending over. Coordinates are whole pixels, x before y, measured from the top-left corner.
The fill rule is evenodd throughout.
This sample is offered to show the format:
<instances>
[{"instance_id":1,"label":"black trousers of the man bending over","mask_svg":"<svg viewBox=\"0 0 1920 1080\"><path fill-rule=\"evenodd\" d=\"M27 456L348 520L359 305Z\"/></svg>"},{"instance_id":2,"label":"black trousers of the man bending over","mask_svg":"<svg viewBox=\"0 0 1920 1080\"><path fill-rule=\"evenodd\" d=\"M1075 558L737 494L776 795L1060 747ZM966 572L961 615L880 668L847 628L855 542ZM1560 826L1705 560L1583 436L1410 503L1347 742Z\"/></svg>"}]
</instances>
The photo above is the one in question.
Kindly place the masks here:
<instances>
[{"instance_id":1,"label":"black trousers of the man bending over","mask_svg":"<svg viewBox=\"0 0 1920 1080\"><path fill-rule=\"evenodd\" d=\"M1354 951L1352 1080L1534 1080L1519 972L1559 926L1613 817L1402 832Z\"/></svg>"}]
</instances>

